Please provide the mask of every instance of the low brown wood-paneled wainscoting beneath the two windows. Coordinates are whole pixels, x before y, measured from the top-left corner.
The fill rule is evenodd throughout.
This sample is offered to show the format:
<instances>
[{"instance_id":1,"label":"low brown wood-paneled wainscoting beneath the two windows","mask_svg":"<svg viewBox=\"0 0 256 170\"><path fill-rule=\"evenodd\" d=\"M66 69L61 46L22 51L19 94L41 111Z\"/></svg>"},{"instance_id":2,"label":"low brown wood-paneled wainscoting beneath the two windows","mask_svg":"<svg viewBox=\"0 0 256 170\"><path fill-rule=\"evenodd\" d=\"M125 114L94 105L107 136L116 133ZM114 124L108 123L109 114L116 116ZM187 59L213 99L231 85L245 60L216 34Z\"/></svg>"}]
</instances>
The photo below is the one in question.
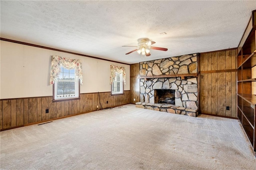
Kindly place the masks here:
<instances>
[{"instance_id":1,"label":"low brown wood-paneled wainscoting beneath the two windows","mask_svg":"<svg viewBox=\"0 0 256 170\"><path fill-rule=\"evenodd\" d=\"M0 129L96 111L101 108L100 103L103 109L128 104L130 103L130 91L124 91L124 95L113 96L110 92L86 93L80 94L78 100L60 102L52 102L52 97L2 99L0 101ZM49 109L49 113L46 113L46 109Z\"/></svg>"}]
</instances>

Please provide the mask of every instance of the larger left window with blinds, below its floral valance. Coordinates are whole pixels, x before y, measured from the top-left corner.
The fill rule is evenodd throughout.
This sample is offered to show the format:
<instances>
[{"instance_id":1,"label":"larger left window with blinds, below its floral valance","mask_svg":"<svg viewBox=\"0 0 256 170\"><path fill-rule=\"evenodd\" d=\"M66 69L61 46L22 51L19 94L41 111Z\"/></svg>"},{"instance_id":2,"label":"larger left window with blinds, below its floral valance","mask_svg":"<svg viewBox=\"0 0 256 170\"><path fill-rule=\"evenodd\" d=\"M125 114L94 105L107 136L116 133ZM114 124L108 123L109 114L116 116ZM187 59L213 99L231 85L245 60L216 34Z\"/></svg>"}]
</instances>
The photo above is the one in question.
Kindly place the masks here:
<instances>
[{"instance_id":1,"label":"larger left window with blinds, below its floral valance","mask_svg":"<svg viewBox=\"0 0 256 170\"><path fill-rule=\"evenodd\" d=\"M80 83L75 69L60 67L61 72L54 82L54 100L80 97Z\"/></svg>"}]
</instances>

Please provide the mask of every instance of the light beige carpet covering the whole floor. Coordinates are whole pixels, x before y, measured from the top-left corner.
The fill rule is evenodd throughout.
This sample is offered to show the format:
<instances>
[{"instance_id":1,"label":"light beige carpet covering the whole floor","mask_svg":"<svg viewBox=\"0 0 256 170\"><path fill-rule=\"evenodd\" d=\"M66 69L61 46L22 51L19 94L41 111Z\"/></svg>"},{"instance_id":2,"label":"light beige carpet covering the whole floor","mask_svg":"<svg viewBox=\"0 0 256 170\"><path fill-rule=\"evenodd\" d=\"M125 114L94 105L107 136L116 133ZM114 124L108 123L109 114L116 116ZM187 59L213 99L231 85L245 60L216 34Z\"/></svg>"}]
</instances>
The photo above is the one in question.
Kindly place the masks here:
<instances>
[{"instance_id":1,"label":"light beige carpet covering the whole floor","mask_svg":"<svg viewBox=\"0 0 256 170\"><path fill-rule=\"evenodd\" d=\"M124 105L1 132L0 168L255 170L238 120Z\"/></svg>"}]
</instances>

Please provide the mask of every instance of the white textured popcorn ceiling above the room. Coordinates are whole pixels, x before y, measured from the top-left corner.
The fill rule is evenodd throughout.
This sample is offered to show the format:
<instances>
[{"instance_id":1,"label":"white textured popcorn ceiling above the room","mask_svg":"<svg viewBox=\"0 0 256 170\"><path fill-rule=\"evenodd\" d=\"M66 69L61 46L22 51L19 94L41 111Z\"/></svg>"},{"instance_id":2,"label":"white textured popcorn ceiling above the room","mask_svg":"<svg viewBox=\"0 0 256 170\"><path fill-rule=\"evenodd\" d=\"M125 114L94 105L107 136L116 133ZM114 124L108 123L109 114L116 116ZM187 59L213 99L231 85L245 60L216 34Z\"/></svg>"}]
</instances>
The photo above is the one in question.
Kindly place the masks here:
<instances>
[{"instance_id":1,"label":"white textured popcorn ceiling above the room","mask_svg":"<svg viewBox=\"0 0 256 170\"><path fill-rule=\"evenodd\" d=\"M238 47L256 1L0 1L1 38L123 63ZM166 32L166 35L160 33ZM151 50L132 51L138 38ZM52 53L54 55L54 53Z\"/></svg>"}]
</instances>

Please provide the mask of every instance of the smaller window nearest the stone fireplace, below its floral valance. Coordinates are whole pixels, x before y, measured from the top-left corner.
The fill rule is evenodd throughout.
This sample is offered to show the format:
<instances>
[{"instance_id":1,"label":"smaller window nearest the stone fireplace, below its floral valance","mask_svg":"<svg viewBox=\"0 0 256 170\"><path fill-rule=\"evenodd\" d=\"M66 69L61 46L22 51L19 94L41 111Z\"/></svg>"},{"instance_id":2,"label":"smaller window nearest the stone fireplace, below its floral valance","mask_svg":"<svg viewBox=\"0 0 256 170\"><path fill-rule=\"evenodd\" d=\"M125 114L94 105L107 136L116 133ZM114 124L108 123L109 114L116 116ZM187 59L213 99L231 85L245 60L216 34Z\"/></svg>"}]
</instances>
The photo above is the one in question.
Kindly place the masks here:
<instances>
[{"instance_id":1,"label":"smaller window nearest the stone fireplace, below its floral valance","mask_svg":"<svg viewBox=\"0 0 256 170\"><path fill-rule=\"evenodd\" d=\"M122 73L115 73L115 79L111 85L111 95L122 95L124 94L124 83Z\"/></svg>"}]
</instances>

